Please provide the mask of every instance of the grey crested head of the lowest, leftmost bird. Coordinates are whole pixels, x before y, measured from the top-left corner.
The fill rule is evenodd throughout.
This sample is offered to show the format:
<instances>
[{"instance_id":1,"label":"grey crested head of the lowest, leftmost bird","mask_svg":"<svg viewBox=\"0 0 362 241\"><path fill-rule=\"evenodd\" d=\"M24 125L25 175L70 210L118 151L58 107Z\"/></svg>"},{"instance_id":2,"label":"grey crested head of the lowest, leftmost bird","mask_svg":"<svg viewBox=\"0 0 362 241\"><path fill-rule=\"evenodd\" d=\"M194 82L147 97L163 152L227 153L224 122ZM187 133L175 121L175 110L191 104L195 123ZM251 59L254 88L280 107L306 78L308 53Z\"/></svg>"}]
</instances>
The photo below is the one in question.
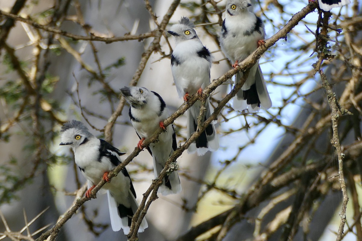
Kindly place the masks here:
<instances>
[{"instance_id":1,"label":"grey crested head of the lowest, leftmost bird","mask_svg":"<svg viewBox=\"0 0 362 241\"><path fill-rule=\"evenodd\" d=\"M93 136L89 133L88 128L77 120L64 123L60 132L62 132L62 142L59 145L70 145L73 150L87 142L88 139Z\"/></svg>"}]
</instances>

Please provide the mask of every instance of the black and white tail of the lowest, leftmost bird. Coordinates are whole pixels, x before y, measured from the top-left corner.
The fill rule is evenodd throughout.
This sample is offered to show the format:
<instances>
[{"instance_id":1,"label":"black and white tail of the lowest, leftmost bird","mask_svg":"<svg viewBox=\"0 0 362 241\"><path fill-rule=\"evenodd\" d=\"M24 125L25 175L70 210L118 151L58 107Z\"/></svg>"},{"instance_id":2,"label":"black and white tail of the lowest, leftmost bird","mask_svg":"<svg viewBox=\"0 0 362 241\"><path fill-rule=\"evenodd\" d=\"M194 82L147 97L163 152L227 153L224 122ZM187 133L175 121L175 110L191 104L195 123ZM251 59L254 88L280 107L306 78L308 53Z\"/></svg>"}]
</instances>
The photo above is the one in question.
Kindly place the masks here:
<instances>
[{"instance_id":1,"label":"black and white tail of the lowest, leftmost bird","mask_svg":"<svg viewBox=\"0 0 362 241\"><path fill-rule=\"evenodd\" d=\"M130 206L126 207L125 205L119 204L113 194L107 190L107 196L108 196L108 207L109 207L109 215L111 219L111 226L113 231L119 231L121 228L123 229L123 232L125 234L128 234L130 232L131 227L131 221L132 216L135 214L138 203L132 194L131 190L128 192L129 194L129 201ZM146 219L142 220L142 223L138 229L139 233L142 233L144 229L148 227Z\"/></svg>"}]
</instances>

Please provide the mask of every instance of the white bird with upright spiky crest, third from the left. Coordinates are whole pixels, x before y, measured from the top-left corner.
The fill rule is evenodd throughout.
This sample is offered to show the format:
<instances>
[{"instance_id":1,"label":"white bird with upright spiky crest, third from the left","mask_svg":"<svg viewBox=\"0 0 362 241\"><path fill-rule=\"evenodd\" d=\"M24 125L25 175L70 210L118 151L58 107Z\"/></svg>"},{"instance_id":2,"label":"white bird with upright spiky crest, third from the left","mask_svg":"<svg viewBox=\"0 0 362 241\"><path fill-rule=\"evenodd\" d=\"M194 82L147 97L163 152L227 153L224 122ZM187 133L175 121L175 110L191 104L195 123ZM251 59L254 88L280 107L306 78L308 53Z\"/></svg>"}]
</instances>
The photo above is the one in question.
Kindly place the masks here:
<instances>
[{"instance_id":1,"label":"white bird with upright spiky crest, third from the left","mask_svg":"<svg viewBox=\"0 0 362 241\"><path fill-rule=\"evenodd\" d=\"M189 94L201 94L202 90L210 83L210 68L212 56L210 51L203 46L198 38L194 24L188 18L182 17L178 24L174 24L169 34L176 40L176 47L171 55L171 70L174 83L180 98L188 101ZM187 129L188 138L197 129L197 117L199 116L201 101L198 100L188 109ZM209 98L206 100L205 119L212 113ZM214 122L211 122L205 131L189 146L188 152L197 151L199 156L207 151L219 149L219 141L216 135Z\"/></svg>"}]
</instances>

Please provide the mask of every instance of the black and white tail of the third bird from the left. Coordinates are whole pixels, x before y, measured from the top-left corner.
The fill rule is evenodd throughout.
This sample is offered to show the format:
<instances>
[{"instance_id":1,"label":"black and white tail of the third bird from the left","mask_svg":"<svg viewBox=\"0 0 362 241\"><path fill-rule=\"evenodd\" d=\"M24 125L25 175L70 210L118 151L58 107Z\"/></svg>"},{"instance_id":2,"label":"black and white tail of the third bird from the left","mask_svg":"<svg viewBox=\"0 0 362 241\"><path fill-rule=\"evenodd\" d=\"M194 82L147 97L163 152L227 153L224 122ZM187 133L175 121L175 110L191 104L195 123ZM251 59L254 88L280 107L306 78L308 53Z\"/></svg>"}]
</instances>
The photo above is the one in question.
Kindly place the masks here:
<instances>
[{"instance_id":1,"label":"black and white tail of the third bird from the left","mask_svg":"<svg viewBox=\"0 0 362 241\"><path fill-rule=\"evenodd\" d=\"M206 111L204 121L208 119L212 113L210 109L210 101L206 100ZM194 133L197 129L197 117L199 116L201 109L201 102L198 100L188 109L187 112L187 131L188 137L190 138L191 134ZM219 149L219 140L216 135L215 125L213 122L209 124L206 129L201 133L201 135L189 146L187 152L189 154L197 152L198 156L204 155L207 151L216 151Z\"/></svg>"}]
</instances>

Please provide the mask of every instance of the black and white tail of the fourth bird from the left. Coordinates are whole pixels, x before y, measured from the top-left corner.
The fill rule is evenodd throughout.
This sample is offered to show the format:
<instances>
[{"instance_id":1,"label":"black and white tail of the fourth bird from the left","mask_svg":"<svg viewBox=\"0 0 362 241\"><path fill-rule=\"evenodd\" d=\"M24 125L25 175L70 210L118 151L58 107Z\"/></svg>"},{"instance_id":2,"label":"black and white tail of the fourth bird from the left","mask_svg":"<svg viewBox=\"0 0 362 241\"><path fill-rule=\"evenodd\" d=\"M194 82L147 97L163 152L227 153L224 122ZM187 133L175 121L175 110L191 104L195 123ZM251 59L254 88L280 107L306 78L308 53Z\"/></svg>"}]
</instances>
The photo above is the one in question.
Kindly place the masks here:
<instances>
[{"instance_id":1,"label":"black and white tail of the fourth bird from the left","mask_svg":"<svg viewBox=\"0 0 362 241\"><path fill-rule=\"evenodd\" d=\"M235 75L235 84L240 81L241 76L240 73ZM255 64L250 69L243 87L233 98L232 107L237 111L248 109L248 112L257 112L260 108L269 109L271 107L270 96L259 64Z\"/></svg>"}]
</instances>

